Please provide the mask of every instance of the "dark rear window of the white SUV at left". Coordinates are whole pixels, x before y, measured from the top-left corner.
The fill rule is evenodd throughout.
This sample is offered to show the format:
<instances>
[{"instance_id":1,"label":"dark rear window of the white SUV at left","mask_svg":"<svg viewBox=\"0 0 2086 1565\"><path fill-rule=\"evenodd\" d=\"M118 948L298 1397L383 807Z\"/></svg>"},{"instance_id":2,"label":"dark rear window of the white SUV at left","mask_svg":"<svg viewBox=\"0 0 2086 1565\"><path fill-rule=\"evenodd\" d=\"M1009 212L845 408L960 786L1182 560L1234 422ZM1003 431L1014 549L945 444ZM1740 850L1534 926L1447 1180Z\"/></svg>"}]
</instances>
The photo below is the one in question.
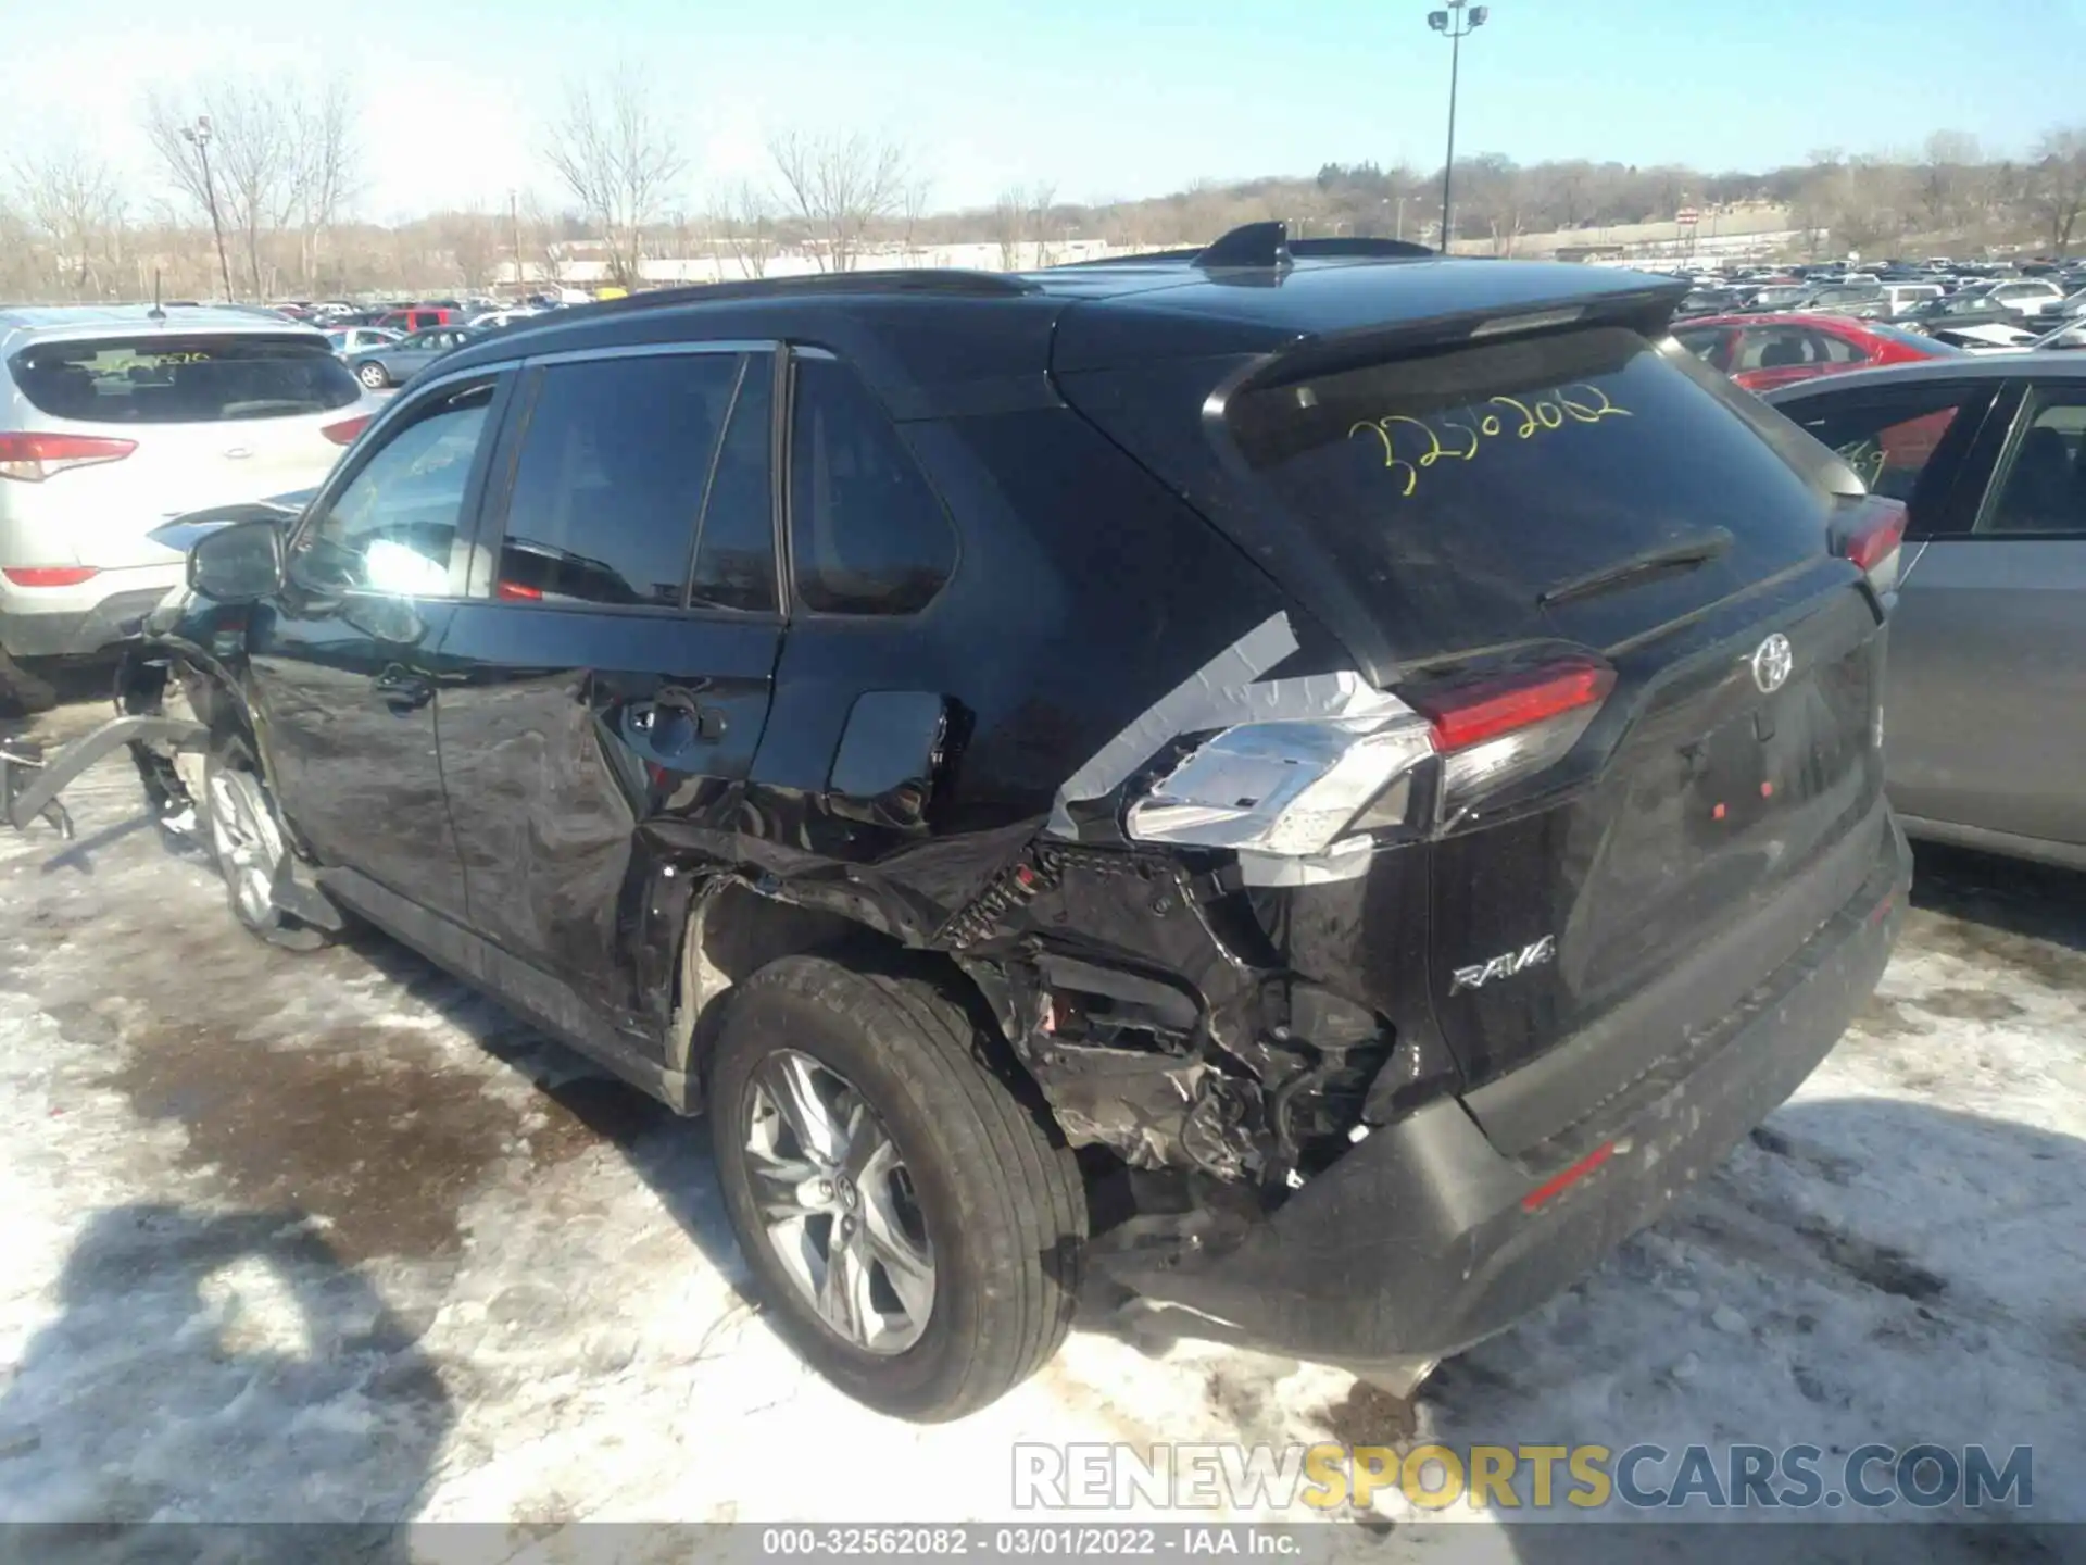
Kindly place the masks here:
<instances>
[{"instance_id":1,"label":"dark rear window of the white SUV at left","mask_svg":"<svg viewBox=\"0 0 2086 1565\"><path fill-rule=\"evenodd\" d=\"M219 424L346 407L361 388L323 340L152 336L42 342L8 361L40 413L92 424Z\"/></svg>"}]
</instances>

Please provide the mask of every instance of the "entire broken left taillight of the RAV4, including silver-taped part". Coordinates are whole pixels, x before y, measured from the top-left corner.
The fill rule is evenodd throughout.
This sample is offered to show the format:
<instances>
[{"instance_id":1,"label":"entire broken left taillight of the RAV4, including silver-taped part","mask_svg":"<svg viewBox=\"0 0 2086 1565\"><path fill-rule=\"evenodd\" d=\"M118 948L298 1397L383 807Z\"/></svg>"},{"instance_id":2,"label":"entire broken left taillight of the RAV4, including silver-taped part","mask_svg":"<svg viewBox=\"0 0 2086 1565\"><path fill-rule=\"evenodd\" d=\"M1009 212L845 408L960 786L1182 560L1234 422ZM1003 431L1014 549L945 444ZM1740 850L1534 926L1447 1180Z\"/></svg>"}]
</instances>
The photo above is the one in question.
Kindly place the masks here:
<instances>
[{"instance_id":1,"label":"entire broken left taillight of the RAV4, including silver-taped part","mask_svg":"<svg viewBox=\"0 0 2086 1565\"><path fill-rule=\"evenodd\" d=\"M1437 820L1452 820L1562 760L1610 689L1612 668L1571 657L1402 693L1389 716L1224 728L1131 803L1124 830L1145 843L1312 858L1356 833L1414 824L1427 762L1439 762Z\"/></svg>"}]
</instances>

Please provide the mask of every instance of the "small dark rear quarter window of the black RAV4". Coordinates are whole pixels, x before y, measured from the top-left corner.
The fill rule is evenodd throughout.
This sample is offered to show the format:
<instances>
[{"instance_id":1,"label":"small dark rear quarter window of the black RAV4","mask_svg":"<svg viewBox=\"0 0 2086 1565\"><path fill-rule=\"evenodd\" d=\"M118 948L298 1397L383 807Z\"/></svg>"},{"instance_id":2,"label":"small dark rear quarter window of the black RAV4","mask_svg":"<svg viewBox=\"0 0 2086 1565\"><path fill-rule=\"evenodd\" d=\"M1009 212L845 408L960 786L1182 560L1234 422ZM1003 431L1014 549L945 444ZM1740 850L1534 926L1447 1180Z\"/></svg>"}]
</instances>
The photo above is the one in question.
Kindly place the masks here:
<instances>
[{"instance_id":1,"label":"small dark rear quarter window of the black RAV4","mask_svg":"<svg viewBox=\"0 0 2086 1565\"><path fill-rule=\"evenodd\" d=\"M955 570L955 532L851 369L797 363L791 413L797 599L820 613L916 613Z\"/></svg>"}]
</instances>

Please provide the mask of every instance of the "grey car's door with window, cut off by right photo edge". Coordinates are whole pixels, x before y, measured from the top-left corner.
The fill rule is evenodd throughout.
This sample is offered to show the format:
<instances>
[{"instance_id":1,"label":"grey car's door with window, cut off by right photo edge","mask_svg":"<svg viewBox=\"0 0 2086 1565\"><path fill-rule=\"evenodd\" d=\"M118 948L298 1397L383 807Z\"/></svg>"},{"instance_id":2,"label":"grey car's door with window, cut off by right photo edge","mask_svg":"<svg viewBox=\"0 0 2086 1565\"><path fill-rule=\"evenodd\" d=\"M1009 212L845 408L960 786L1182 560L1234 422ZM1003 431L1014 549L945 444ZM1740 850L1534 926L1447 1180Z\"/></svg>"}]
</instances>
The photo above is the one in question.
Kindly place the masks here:
<instances>
[{"instance_id":1,"label":"grey car's door with window, cut off by right photo edge","mask_svg":"<svg viewBox=\"0 0 2086 1565\"><path fill-rule=\"evenodd\" d=\"M1911 816L2086 845L2086 380L2013 384L1892 622Z\"/></svg>"}]
</instances>

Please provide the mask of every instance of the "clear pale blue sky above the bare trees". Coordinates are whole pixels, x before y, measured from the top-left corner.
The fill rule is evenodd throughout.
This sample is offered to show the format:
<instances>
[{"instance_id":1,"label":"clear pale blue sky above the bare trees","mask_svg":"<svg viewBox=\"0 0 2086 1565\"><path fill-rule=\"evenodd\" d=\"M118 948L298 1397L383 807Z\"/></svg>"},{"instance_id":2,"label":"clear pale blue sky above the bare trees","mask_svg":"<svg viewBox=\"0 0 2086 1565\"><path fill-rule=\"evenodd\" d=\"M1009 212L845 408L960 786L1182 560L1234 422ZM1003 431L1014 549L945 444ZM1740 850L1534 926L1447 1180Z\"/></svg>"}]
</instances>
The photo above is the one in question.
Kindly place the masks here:
<instances>
[{"instance_id":1,"label":"clear pale blue sky above the bare trees","mask_svg":"<svg viewBox=\"0 0 2086 1565\"><path fill-rule=\"evenodd\" d=\"M1064 200L1329 159L1441 159L1448 44L1427 0L6 0L6 150L100 142L140 175L148 83L346 69L363 209L503 204L551 184L540 109L642 61L709 186L761 173L774 129L905 140L937 207L1051 182ZM92 13L92 23L86 19ZM1496 0L1464 46L1458 146L1767 167L1961 129L2026 150L2086 121L2086 0Z\"/></svg>"}]
</instances>

